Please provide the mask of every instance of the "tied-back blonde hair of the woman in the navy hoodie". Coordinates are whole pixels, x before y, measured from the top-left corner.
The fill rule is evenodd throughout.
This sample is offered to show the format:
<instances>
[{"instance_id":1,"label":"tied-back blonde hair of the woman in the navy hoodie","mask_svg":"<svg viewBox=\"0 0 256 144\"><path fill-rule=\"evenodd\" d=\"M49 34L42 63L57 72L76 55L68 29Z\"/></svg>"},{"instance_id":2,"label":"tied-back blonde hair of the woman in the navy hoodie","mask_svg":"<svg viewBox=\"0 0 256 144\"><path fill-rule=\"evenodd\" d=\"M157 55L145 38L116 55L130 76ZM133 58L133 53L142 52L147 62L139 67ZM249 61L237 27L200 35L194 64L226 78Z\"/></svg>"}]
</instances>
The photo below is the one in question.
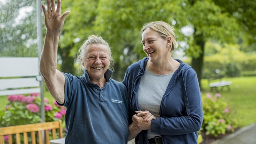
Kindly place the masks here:
<instances>
[{"instance_id":1,"label":"tied-back blonde hair of the woman in the navy hoodie","mask_svg":"<svg viewBox=\"0 0 256 144\"><path fill-rule=\"evenodd\" d=\"M147 28L151 28L152 30L159 33L161 37L164 39L167 36L171 36L171 45L170 45L170 51L173 51L178 47L178 43L176 42L176 36L174 33L174 27L169 25L169 23L163 22L163 21L153 21L150 23L146 23L141 28L141 33L143 33Z\"/></svg>"}]
</instances>

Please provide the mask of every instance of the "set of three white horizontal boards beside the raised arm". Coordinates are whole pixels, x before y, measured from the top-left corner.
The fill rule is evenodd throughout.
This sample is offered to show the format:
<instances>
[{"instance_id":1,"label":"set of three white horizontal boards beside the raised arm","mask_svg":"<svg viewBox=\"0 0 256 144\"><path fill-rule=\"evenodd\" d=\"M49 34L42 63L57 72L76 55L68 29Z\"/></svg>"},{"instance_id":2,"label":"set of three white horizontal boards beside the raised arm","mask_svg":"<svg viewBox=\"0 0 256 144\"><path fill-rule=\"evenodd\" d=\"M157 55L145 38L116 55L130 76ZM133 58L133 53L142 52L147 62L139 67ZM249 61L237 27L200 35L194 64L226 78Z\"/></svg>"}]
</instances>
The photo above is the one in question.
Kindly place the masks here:
<instances>
[{"instance_id":1,"label":"set of three white horizontal boards beside the raised arm","mask_svg":"<svg viewBox=\"0 0 256 144\"><path fill-rule=\"evenodd\" d=\"M40 92L38 57L0 57L0 95Z\"/></svg>"}]
</instances>

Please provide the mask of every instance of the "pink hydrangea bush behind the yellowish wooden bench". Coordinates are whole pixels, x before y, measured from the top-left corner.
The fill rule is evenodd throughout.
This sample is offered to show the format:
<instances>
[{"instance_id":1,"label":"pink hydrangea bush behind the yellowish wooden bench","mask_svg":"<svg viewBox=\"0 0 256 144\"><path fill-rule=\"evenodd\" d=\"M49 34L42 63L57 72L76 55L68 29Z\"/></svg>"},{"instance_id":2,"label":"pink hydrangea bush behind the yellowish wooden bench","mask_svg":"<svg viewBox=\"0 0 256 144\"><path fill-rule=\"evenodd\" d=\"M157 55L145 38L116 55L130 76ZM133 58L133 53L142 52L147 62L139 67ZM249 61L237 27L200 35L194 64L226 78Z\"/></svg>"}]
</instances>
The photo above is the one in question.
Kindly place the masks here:
<instances>
[{"instance_id":1,"label":"pink hydrangea bush behind the yellowish wooden bench","mask_svg":"<svg viewBox=\"0 0 256 144\"><path fill-rule=\"evenodd\" d=\"M4 110L0 111L0 127L25 125L30 123L40 123L40 105L41 97L38 93L24 95L9 95L7 97L9 103ZM45 121L61 121L64 122L66 109L59 106L56 101L50 104L44 98Z\"/></svg>"}]
</instances>

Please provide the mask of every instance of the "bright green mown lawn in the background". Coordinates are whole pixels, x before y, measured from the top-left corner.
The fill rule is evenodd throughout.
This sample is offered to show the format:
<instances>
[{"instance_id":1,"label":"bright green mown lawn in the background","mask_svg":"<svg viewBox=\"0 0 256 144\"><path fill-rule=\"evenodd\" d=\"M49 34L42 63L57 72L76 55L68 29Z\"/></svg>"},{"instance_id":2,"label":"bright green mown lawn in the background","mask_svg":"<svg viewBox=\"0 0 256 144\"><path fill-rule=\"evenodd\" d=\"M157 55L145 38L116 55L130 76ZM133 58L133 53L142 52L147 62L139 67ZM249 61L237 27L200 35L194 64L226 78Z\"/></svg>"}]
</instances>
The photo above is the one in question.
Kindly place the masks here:
<instances>
[{"instance_id":1,"label":"bright green mown lawn in the background","mask_svg":"<svg viewBox=\"0 0 256 144\"><path fill-rule=\"evenodd\" d=\"M230 109L236 111L241 118L241 127L250 125L256 122L256 94L255 84L256 76L254 77L237 77L237 78L223 78L222 80L232 81L230 91L224 87L221 91L221 97L227 102ZM202 95L208 93L208 80L202 80ZM214 91L215 92L215 91ZM49 91L44 92L44 96L50 102L54 99ZM0 96L0 110L4 109L7 104L7 96Z\"/></svg>"}]
</instances>

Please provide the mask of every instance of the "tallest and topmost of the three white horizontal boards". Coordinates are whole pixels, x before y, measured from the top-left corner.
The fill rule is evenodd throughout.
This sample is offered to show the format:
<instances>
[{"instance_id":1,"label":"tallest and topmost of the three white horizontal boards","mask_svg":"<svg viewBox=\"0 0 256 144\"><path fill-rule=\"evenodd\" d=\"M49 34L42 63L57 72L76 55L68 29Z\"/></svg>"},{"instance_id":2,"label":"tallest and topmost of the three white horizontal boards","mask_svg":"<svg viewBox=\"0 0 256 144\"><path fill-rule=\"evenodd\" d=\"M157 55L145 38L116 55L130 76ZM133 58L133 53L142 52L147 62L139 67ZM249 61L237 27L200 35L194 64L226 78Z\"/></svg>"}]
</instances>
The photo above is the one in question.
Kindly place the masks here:
<instances>
[{"instance_id":1,"label":"tallest and topmost of the three white horizontal boards","mask_svg":"<svg viewBox=\"0 0 256 144\"><path fill-rule=\"evenodd\" d=\"M0 57L0 77L37 76L38 57Z\"/></svg>"}]
</instances>

